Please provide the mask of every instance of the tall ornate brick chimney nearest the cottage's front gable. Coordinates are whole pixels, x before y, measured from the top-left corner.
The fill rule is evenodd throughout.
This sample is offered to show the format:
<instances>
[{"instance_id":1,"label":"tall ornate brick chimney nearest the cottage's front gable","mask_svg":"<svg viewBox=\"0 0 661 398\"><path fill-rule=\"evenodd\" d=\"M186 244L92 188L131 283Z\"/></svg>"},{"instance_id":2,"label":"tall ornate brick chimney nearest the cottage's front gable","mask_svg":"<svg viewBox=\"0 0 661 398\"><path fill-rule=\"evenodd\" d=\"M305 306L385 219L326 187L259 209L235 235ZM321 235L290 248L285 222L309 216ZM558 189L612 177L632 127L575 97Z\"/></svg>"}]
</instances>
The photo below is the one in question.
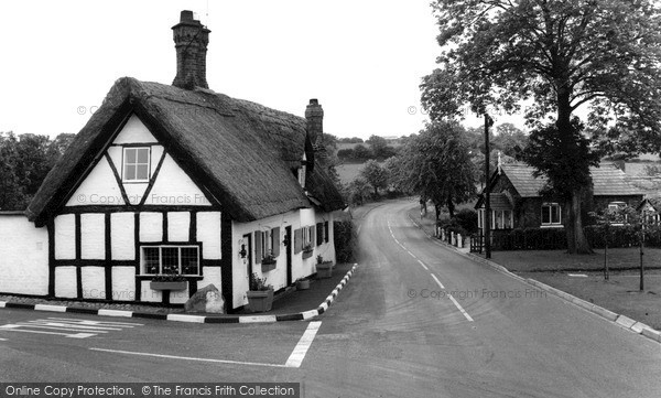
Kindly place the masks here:
<instances>
[{"instance_id":1,"label":"tall ornate brick chimney nearest the cottage's front gable","mask_svg":"<svg viewBox=\"0 0 661 398\"><path fill-rule=\"evenodd\" d=\"M172 26L176 49L176 77L173 86L209 88L206 83L206 51L210 31L193 19L193 11L182 11L180 23Z\"/></svg>"}]
</instances>

